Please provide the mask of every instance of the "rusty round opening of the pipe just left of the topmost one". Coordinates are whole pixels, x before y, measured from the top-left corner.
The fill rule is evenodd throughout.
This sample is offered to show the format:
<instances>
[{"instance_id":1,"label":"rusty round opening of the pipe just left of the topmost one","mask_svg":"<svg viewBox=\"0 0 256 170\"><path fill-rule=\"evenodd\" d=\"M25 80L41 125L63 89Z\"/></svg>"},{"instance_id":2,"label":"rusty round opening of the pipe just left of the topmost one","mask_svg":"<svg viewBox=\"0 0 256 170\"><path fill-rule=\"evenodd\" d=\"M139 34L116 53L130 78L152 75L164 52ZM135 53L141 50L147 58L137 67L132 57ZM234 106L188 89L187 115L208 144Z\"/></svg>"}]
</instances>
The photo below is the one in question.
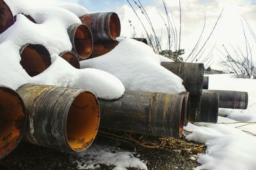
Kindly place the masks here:
<instances>
[{"instance_id":1,"label":"rusty round opening of the pipe just left of the topmost one","mask_svg":"<svg viewBox=\"0 0 256 170\"><path fill-rule=\"evenodd\" d=\"M88 59L93 49L92 32L86 25L79 25L74 35L76 52L81 59Z\"/></svg>"}]
</instances>

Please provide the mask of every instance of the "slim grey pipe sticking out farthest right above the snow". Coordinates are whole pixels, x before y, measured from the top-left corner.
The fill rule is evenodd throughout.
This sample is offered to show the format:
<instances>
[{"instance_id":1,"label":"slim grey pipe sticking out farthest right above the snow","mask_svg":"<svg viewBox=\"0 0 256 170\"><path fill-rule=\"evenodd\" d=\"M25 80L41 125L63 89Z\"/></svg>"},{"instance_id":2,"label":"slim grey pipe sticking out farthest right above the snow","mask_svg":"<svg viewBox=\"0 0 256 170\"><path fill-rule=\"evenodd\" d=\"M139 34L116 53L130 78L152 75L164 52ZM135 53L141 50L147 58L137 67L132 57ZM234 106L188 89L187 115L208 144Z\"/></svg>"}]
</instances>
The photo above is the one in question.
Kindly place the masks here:
<instances>
[{"instance_id":1,"label":"slim grey pipe sticking out farthest right above the snow","mask_svg":"<svg viewBox=\"0 0 256 170\"><path fill-rule=\"evenodd\" d=\"M204 90L204 92L216 92L220 94L219 108L246 110L248 106L248 92L228 90Z\"/></svg>"}]
</instances>

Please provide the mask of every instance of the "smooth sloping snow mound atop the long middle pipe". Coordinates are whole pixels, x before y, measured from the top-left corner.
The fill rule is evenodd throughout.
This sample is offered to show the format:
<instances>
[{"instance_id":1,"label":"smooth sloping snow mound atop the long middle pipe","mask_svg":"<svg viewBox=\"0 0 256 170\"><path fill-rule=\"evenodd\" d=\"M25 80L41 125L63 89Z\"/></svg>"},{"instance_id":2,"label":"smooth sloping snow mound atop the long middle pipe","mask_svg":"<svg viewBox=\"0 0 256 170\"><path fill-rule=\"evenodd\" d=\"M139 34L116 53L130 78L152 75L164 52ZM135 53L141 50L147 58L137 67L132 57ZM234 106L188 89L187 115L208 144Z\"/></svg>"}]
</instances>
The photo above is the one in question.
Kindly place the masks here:
<instances>
[{"instance_id":1,"label":"smooth sloping snow mound atop the long middle pipe","mask_svg":"<svg viewBox=\"0 0 256 170\"><path fill-rule=\"evenodd\" d=\"M109 53L80 62L82 68L102 69L119 78L126 90L166 92L186 91L182 79L160 65L159 56L150 46L130 38L118 38L120 43Z\"/></svg>"}]
</instances>

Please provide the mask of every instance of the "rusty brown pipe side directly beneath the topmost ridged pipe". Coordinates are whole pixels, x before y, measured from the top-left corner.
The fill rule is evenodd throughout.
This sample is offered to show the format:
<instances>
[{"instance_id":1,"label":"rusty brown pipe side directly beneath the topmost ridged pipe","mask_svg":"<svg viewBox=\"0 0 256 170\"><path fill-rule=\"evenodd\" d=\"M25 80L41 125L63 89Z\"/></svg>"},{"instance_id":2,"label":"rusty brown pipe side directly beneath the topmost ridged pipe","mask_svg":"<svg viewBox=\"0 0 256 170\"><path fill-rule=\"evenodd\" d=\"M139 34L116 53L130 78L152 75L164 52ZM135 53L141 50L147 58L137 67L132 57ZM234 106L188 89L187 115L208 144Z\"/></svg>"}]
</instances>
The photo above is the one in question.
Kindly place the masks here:
<instances>
[{"instance_id":1,"label":"rusty brown pipe side directly beneath the topmost ridged pipe","mask_svg":"<svg viewBox=\"0 0 256 170\"><path fill-rule=\"evenodd\" d=\"M104 55L111 50L113 50L116 45L118 45L118 41L109 41L109 42L102 42L102 43L94 43L93 44L93 51L90 55L90 58L99 57L100 55Z\"/></svg>"}]
</instances>

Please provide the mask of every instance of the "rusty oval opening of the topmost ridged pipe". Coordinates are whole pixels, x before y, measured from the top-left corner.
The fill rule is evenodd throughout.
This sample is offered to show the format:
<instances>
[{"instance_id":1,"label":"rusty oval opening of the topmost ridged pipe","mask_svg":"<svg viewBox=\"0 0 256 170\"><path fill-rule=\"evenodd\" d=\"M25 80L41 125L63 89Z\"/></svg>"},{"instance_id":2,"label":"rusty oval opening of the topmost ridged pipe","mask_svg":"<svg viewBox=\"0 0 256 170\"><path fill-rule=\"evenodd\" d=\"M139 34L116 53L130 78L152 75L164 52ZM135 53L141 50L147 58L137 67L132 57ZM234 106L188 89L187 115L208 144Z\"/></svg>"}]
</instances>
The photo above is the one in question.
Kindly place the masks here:
<instances>
[{"instance_id":1,"label":"rusty oval opening of the topmost ridged pipe","mask_svg":"<svg viewBox=\"0 0 256 170\"><path fill-rule=\"evenodd\" d=\"M112 13L111 17L109 18L109 31L113 39L120 36L121 25L119 17L116 13Z\"/></svg>"}]
</instances>

